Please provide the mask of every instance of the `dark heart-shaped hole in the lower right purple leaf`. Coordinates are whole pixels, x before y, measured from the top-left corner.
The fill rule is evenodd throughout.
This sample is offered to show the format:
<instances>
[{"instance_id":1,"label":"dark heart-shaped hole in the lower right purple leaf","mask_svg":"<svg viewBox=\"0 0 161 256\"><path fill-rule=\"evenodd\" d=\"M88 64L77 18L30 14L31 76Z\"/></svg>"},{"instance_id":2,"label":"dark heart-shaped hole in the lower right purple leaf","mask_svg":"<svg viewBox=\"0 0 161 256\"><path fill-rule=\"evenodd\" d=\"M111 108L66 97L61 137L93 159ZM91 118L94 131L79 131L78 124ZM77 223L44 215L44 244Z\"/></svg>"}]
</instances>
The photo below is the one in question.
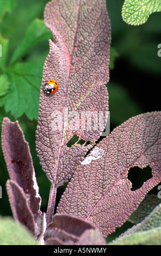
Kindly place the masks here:
<instances>
[{"instance_id":1,"label":"dark heart-shaped hole in the lower right purple leaf","mask_svg":"<svg viewBox=\"0 0 161 256\"><path fill-rule=\"evenodd\" d=\"M128 170L127 178L132 182L131 191L138 190L144 182L152 178L152 168L150 166L143 169L138 166L131 167Z\"/></svg>"}]
</instances>

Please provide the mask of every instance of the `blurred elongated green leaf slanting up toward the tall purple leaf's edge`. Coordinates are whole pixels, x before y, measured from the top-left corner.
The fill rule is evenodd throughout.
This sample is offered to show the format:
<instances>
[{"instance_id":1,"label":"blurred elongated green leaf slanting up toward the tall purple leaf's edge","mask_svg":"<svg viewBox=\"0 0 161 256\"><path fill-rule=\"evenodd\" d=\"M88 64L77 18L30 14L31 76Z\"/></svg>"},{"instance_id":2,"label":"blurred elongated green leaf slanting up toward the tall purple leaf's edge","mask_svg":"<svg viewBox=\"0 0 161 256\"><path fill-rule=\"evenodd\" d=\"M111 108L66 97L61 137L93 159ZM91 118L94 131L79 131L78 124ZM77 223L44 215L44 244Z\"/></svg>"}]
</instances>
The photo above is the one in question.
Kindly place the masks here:
<instances>
[{"instance_id":1,"label":"blurred elongated green leaf slanting up toward the tall purple leaf's edge","mask_svg":"<svg viewBox=\"0 0 161 256\"><path fill-rule=\"evenodd\" d=\"M23 36L22 41L17 46L13 56L10 60L10 65L14 64L18 59L22 58L24 54L35 44L42 40L47 40L51 33L44 24L44 20L35 19L30 23Z\"/></svg>"}]
</instances>

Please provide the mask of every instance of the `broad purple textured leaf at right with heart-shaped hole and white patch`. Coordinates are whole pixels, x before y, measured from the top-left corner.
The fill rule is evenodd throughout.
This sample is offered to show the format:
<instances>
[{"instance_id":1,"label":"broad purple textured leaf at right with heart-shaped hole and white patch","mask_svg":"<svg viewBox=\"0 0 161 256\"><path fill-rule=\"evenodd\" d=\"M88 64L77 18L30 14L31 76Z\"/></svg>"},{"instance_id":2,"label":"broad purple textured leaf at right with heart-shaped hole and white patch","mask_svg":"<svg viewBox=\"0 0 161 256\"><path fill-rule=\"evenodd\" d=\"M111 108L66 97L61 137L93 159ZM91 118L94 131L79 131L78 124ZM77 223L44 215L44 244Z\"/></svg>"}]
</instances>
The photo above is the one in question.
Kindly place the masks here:
<instances>
[{"instance_id":1,"label":"broad purple textured leaf at right with heart-shaped hole and white patch","mask_svg":"<svg viewBox=\"0 0 161 256\"><path fill-rule=\"evenodd\" d=\"M116 127L77 168L58 212L94 223L104 236L120 227L161 180L160 129L161 112L141 114ZM128 170L147 165L152 178L132 191Z\"/></svg>"}]
</instances>

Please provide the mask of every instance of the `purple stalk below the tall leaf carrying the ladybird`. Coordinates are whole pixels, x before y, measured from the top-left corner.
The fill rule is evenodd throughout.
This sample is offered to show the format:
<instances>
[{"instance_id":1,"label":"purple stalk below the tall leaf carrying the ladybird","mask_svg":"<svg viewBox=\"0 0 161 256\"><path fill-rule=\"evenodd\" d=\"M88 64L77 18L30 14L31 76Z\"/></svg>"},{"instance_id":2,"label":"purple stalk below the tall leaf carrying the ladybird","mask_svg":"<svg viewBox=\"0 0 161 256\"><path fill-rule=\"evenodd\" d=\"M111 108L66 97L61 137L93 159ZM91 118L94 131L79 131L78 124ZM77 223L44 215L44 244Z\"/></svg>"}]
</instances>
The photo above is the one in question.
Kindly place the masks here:
<instances>
[{"instance_id":1,"label":"purple stalk below the tall leaf carrying the ladybird","mask_svg":"<svg viewBox=\"0 0 161 256\"><path fill-rule=\"evenodd\" d=\"M52 222L56 194L57 194L57 188L55 188L55 184L52 184L51 190L49 192L49 200L48 200L48 207L47 207L47 214L46 214L46 225L47 226L49 223Z\"/></svg>"}]
</instances>

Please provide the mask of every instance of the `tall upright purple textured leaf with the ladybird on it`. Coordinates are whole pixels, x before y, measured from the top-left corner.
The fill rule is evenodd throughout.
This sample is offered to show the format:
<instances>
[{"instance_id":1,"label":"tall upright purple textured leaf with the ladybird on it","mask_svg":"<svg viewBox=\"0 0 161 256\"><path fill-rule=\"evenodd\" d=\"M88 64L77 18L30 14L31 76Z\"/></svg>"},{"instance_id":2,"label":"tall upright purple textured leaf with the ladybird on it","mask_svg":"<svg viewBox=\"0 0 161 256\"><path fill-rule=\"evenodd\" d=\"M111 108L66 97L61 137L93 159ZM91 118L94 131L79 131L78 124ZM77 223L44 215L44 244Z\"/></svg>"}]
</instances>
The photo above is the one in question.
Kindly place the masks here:
<instances>
[{"instance_id":1,"label":"tall upright purple textured leaf with the ladybird on it","mask_svg":"<svg viewBox=\"0 0 161 256\"><path fill-rule=\"evenodd\" d=\"M66 147L72 135L94 142L104 129L108 111L104 83L109 79L110 22L104 0L53 0L46 6L45 23L54 35L54 43L49 41L50 51L44 66L36 147L42 168L57 187L71 178L90 148ZM57 81L59 89L47 95L43 89L51 79ZM83 111L87 115L103 112L104 123L95 130L81 129L78 124Z\"/></svg>"}]
</instances>

